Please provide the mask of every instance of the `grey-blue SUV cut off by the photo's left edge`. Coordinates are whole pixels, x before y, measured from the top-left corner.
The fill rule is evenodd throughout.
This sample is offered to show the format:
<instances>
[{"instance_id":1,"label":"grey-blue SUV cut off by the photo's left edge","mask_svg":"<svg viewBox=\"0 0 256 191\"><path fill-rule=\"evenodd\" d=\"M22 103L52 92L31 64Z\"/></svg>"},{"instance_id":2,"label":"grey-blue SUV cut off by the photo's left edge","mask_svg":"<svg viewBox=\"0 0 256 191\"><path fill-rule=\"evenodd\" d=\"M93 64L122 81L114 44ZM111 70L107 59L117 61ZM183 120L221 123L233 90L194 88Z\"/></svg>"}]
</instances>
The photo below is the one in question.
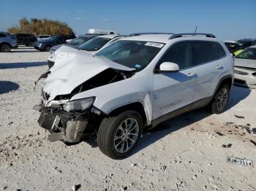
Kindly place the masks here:
<instances>
[{"instance_id":1,"label":"grey-blue SUV cut off by the photo's left edge","mask_svg":"<svg viewBox=\"0 0 256 191\"><path fill-rule=\"evenodd\" d=\"M0 52L10 52L18 46L18 40L9 33L0 32Z\"/></svg>"}]
</instances>

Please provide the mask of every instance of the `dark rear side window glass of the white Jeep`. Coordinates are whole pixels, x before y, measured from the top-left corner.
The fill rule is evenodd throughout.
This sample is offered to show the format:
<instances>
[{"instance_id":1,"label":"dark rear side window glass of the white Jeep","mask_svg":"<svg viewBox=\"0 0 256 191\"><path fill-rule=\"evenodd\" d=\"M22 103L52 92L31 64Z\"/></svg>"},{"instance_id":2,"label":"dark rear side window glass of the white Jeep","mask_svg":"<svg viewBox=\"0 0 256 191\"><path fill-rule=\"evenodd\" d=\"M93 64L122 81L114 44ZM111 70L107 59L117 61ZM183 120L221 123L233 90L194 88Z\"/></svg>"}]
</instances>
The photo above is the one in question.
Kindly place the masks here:
<instances>
[{"instance_id":1,"label":"dark rear side window glass of the white Jeep","mask_svg":"<svg viewBox=\"0 0 256 191\"><path fill-rule=\"evenodd\" d=\"M225 56L225 50L218 42L192 42L193 65L218 60Z\"/></svg>"}]
</instances>

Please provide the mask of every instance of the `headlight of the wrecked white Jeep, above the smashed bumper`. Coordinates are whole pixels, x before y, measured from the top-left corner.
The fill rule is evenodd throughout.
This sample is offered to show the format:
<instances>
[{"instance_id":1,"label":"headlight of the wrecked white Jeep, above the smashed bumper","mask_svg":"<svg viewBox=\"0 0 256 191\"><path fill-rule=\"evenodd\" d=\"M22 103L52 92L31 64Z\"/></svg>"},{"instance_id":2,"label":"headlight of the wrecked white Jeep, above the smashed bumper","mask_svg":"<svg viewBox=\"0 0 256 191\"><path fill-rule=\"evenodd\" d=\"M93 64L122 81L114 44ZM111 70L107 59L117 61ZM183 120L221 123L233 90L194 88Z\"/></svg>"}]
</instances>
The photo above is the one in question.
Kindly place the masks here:
<instances>
[{"instance_id":1,"label":"headlight of the wrecked white Jeep, above the smashed bumper","mask_svg":"<svg viewBox=\"0 0 256 191\"><path fill-rule=\"evenodd\" d=\"M69 101L63 105L63 109L66 112L80 112L88 109L94 102L94 98L84 98L74 101Z\"/></svg>"}]
</instances>

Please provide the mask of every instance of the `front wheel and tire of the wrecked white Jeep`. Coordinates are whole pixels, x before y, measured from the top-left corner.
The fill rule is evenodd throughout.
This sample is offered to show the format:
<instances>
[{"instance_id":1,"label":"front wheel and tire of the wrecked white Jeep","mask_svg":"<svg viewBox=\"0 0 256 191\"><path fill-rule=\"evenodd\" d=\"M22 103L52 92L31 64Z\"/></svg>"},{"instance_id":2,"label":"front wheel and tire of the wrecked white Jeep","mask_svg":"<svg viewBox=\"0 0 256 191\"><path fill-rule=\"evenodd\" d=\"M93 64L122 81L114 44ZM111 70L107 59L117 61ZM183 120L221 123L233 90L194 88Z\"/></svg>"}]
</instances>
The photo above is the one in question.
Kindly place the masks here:
<instances>
[{"instance_id":1,"label":"front wheel and tire of the wrecked white Jeep","mask_svg":"<svg viewBox=\"0 0 256 191\"><path fill-rule=\"evenodd\" d=\"M131 124L132 126L129 127ZM99 149L112 159L128 157L138 144L142 129L143 120L136 111L129 110L115 116L105 117L97 133Z\"/></svg>"}]
</instances>

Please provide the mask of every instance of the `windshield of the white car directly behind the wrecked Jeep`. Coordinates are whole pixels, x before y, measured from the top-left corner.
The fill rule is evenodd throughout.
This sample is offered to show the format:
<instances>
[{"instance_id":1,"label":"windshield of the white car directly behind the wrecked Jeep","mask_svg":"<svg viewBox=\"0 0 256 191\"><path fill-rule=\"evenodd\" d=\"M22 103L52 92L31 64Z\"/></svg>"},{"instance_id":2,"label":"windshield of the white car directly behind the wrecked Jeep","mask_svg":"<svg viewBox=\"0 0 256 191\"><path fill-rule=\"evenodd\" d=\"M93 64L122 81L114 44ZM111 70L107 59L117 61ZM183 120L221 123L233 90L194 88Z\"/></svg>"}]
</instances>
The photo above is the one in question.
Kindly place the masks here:
<instances>
[{"instance_id":1,"label":"windshield of the white car directly behind the wrecked Jeep","mask_svg":"<svg viewBox=\"0 0 256 191\"><path fill-rule=\"evenodd\" d=\"M86 50L86 51L97 51L101 47L103 47L110 39L102 38L102 37L95 37L93 39L89 39L85 43L81 44L78 49Z\"/></svg>"}]
</instances>

